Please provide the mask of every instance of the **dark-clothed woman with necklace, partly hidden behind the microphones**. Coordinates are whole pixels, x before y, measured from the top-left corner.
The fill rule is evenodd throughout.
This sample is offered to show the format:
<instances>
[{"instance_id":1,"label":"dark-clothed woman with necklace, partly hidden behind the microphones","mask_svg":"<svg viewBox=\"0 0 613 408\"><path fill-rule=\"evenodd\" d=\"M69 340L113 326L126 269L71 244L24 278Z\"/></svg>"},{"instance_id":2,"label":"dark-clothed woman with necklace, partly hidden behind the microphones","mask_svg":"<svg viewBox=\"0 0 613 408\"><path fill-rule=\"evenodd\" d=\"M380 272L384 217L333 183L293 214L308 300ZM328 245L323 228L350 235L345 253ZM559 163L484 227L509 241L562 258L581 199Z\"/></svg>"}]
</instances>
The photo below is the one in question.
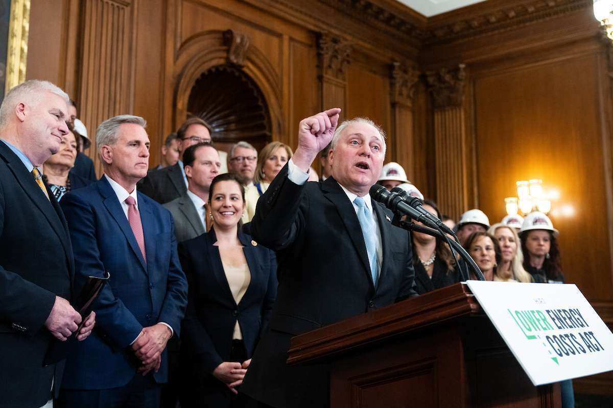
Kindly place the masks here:
<instances>
[{"instance_id":1,"label":"dark-clothed woman with necklace, partly hidden behind the microphones","mask_svg":"<svg viewBox=\"0 0 613 408\"><path fill-rule=\"evenodd\" d=\"M424 209L435 217L441 217L438 207L432 201L425 200ZM421 232L413 232L412 239L415 290L418 294L422 295L460 281L455 271L455 259L442 239Z\"/></svg>"}]
</instances>

